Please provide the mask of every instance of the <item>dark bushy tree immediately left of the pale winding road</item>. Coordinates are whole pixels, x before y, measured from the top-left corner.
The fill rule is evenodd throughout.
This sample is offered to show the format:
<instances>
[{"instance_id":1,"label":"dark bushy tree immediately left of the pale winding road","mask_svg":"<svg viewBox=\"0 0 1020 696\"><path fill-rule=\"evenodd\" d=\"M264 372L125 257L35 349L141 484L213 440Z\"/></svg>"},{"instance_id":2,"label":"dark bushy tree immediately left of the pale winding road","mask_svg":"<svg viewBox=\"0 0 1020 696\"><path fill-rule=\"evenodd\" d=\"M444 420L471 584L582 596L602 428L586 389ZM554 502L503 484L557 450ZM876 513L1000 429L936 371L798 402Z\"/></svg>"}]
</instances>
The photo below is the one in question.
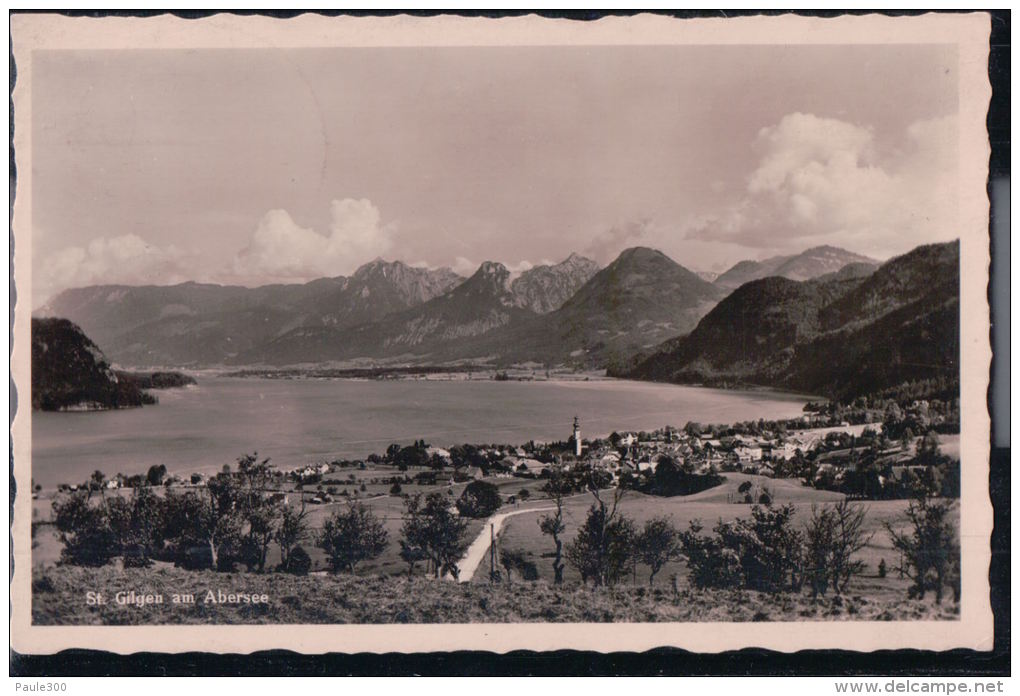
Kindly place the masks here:
<instances>
[{"instance_id":1,"label":"dark bushy tree immediately left of the pale winding road","mask_svg":"<svg viewBox=\"0 0 1020 696\"><path fill-rule=\"evenodd\" d=\"M415 562L424 560L426 571L436 578L443 574L457 578L457 561L467 548L467 520L454 514L442 493L429 493L423 503L416 495L404 504L401 558L408 563L408 573L413 573Z\"/></svg>"}]
</instances>

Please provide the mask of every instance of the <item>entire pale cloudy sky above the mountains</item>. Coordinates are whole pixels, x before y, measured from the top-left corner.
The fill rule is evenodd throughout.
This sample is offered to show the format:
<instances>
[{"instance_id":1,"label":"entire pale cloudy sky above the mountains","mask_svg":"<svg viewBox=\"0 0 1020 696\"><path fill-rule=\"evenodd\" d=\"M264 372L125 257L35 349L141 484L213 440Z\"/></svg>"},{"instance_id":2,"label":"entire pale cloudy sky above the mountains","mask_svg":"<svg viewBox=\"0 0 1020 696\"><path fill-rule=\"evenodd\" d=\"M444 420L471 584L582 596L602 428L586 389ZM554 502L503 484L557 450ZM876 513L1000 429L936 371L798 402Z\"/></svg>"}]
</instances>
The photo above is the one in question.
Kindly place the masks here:
<instances>
[{"instance_id":1,"label":"entire pale cloudy sky above the mountains","mask_svg":"<svg viewBox=\"0 0 1020 696\"><path fill-rule=\"evenodd\" d=\"M955 239L954 46L41 51L34 302Z\"/></svg>"}]
</instances>

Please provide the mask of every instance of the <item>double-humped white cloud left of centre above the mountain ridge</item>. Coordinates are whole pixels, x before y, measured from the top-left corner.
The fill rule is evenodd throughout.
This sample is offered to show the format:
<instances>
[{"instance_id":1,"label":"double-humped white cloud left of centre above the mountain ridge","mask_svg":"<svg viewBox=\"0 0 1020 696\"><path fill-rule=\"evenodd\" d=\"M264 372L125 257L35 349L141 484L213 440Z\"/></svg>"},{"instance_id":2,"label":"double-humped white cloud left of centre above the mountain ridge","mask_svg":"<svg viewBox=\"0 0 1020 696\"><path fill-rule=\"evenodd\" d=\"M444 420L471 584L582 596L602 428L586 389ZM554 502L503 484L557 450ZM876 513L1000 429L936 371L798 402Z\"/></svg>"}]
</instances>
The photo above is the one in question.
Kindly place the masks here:
<instances>
[{"instance_id":1,"label":"double-humped white cloud left of centre above the mountain ridge","mask_svg":"<svg viewBox=\"0 0 1020 696\"><path fill-rule=\"evenodd\" d=\"M235 274L257 282L343 276L393 247L392 229L380 225L371 201L335 200L329 213L328 236L302 228L286 210L265 213L235 258Z\"/></svg>"}]
</instances>

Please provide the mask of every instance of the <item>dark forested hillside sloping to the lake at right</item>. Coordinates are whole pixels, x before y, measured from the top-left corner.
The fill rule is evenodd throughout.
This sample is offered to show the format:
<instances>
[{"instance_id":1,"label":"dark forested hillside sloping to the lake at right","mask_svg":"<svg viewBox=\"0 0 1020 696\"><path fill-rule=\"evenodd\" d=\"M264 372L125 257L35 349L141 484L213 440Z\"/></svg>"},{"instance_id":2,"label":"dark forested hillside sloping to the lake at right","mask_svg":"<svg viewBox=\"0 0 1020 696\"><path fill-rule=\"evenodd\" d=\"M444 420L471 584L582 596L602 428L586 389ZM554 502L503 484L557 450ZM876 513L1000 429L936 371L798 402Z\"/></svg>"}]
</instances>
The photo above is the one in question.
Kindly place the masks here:
<instances>
[{"instance_id":1,"label":"dark forested hillside sloping to the lake at right","mask_svg":"<svg viewBox=\"0 0 1020 696\"><path fill-rule=\"evenodd\" d=\"M959 379L959 242L922 246L866 276L746 283L688 335L617 376L758 385L849 398Z\"/></svg>"}]
</instances>

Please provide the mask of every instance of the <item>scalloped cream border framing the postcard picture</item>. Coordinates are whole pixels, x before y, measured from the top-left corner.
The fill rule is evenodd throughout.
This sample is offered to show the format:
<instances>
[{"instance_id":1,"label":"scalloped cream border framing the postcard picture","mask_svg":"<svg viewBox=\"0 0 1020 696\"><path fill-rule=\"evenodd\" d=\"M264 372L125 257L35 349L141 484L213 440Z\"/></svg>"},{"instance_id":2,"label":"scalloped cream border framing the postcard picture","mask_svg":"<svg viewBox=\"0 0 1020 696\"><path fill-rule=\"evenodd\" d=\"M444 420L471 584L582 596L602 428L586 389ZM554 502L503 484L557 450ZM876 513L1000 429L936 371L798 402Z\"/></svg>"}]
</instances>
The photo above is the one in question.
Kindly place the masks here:
<instances>
[{"instance_id":1,"label":"scalloped cream border framing the postcard picture","mask_svg":"<svg viewBox=\"0 0 1020 696\"><path fill-rule=\"evenodd\" d=\"M194 20L68 18L17 14L10 31L17 67L14 89L17 180L13 229L14 313L11 375L20 404L30 403L30 297L32 287L32 51L36 49L290 48L312 46L495 46L642 44L956 44L960 56L961 230L961 452L965 462L961 508L963 589L959 622L848 622L774 624L507 624L425 626L189 626L35 627L31 625L31 499L18 496L12 527L15 569L11 583L10 646L21 653L92 648L135 651L250 652L286 648L319 652L419 652L515 649L642 651L676 646L699 652L744 647L874 650L957 647L990 649L988 599L989 417L985 405L991 349L986 288L989 268L989 146L985 116L989 17L984 13L814 18L798 15L673 19L659 15L607 17L593 22L538 16L500 19L322 17L292 19L217 14ZM12 427L18 490L31 482L31 411L18 408Z\"/></svg>"}]
</instances>

